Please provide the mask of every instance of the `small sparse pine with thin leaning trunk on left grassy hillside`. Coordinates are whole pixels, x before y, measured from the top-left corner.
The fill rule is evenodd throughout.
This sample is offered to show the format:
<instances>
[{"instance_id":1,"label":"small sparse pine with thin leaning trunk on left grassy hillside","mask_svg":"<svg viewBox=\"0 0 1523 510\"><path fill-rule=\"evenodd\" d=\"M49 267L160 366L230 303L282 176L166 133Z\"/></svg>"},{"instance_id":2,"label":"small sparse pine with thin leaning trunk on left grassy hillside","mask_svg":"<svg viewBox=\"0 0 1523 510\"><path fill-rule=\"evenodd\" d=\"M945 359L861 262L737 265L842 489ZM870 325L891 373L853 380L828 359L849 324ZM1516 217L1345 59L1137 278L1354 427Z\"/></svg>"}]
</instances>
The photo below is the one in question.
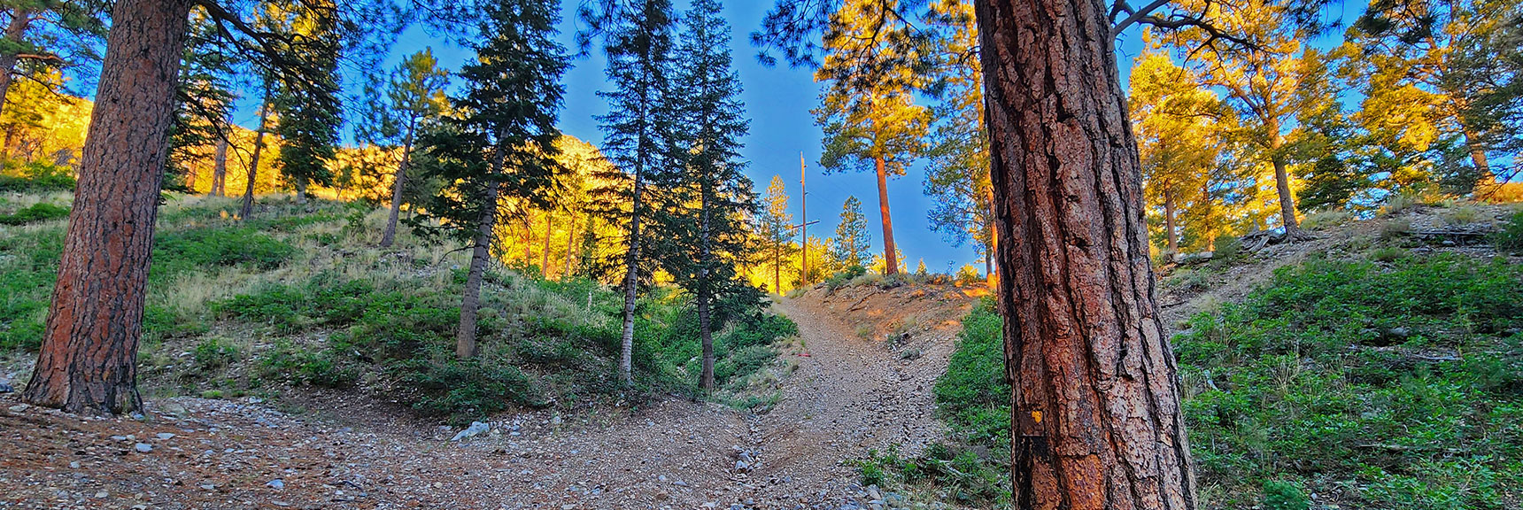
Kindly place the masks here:
<instances>
[{"instance_id":1,"label":"small sparse pine with thin leaning trunk on left grassy hillside","mask_svg":"<svg viewBox=\"0 0 1523 510\"><path fill-rule=\"evenodd\" d=\"M448 108L445 87L449 84L449 72L439 69L439 59L433 49L408 55L387 81L385 100L375 97L372 125L367 126L362 139L387 148L401 146L401 161L391 180L391 207L387 213L385 231L381 234L381 248L390 248L396 241L396 222L402 212L402 198L407 190L407 167L413 157L413 142L419 125L436 122Z\"/></svg>"}]
</instances>

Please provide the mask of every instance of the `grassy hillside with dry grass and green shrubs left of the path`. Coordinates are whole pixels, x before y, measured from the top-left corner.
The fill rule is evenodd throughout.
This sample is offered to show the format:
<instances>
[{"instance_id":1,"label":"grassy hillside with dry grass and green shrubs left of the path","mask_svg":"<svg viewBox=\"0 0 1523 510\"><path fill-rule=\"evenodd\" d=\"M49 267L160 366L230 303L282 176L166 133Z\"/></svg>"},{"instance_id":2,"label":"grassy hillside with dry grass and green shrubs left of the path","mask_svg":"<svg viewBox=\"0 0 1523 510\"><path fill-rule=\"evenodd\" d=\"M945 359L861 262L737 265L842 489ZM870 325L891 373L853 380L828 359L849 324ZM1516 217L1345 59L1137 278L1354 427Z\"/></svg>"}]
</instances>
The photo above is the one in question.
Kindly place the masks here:
<instances>
[{"instance_id":1,"label":"grassy hillside with dry grass and green shrubs left of the path","mask_svg":"<svg viewBox=\"0 0 1523 510\"><path fill-rule=\"evenodd\" d=\"M69 195L9 195L0 215L38 204L67 209ZM408 234L376 250L384 210L358 204L270 198L248 222L236 210L235 199L171 195L160 212L139 353L148 397L324 387L452 422L631 397L615 382L623 301L608 286L493 266L481 355L455 361L468 253ZM58 215L0 225L0 371L21 376L41 343L64 227ZM638 394L696 394L688 301L656 289L640 303ZM745 304L716 338L723 396L745 393L775 356L769 346L795 332L765 304Z\"/></svg>"}]
</instances>

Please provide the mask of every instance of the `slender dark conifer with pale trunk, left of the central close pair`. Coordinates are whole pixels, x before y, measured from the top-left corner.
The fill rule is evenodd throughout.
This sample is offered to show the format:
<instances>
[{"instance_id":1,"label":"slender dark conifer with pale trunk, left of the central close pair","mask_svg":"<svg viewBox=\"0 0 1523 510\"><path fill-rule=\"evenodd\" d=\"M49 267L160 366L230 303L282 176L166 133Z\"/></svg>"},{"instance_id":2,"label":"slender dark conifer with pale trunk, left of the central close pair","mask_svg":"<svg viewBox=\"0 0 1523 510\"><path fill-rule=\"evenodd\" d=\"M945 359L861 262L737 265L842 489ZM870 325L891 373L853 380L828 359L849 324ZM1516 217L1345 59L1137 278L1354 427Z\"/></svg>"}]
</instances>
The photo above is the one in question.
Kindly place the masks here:
<instances>
[{"instance_id":1,"label":"slender dark conifer with pale trunk, left of the central close pair","mask_svg":"<svg viewBox=\"0 0 1523 510\"><path fill-rule=\"evenodd\" d=\"M675 149L672 132L678 120L672 111L670 59L672 59L672 3L669 0L632 0L627 5L615 2L603 12L589 9L582 18L603 33L608 55L608 81L612 91L600 96L609 102L609 113L602 120L606 132L603 151L629 175L629 210L623 218L611 218L626 225L627 237L623 256L624 326L620 338L618 375L626 385L634 384L635 298L641 282L641 250L649 236L641 230L656 224L652 216L661 207L652 207L647 196L650 184L661 190L669 180Z\"/></svg>"}]
</instances>

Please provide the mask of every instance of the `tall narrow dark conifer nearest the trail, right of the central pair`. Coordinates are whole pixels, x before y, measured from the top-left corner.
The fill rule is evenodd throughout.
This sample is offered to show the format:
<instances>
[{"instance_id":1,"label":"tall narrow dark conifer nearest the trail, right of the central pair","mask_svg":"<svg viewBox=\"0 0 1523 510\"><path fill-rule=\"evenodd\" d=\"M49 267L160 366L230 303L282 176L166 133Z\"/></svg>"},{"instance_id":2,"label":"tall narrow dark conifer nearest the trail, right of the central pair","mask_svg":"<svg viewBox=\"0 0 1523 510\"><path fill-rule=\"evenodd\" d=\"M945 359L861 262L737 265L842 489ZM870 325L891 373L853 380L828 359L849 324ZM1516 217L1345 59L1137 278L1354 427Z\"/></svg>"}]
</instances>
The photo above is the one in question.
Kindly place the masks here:
<instances>
[{"instance_id":1,"label":"tall narrow dark conifer nearest the trail, right of the central pair","mask_svg":"<svg viewBox=\"0 0 1523 510\"><path fill-rule=\"evenodd\" d=\"M740 102L740 76L731 69L730 24L716 0L694 0L684 17L676 47L676 113L682 114L678 155L684 163L682 189L696 192L698 210L684 212L678 228L669 228L682 253L664 256L667 273L698 301L699 339L704 359L699 387L714 390L713 306L730 295L745 294L736 260L746 248L742 221L755 209L751 180L742 172L740 139L748 132ZM687 198L679 202L691 204ZM696 216L696 218L694 218ZM696 219L696 221L694 221ZM722 321L719 323L722 324Z\"/></svg>"}]
</instances>

